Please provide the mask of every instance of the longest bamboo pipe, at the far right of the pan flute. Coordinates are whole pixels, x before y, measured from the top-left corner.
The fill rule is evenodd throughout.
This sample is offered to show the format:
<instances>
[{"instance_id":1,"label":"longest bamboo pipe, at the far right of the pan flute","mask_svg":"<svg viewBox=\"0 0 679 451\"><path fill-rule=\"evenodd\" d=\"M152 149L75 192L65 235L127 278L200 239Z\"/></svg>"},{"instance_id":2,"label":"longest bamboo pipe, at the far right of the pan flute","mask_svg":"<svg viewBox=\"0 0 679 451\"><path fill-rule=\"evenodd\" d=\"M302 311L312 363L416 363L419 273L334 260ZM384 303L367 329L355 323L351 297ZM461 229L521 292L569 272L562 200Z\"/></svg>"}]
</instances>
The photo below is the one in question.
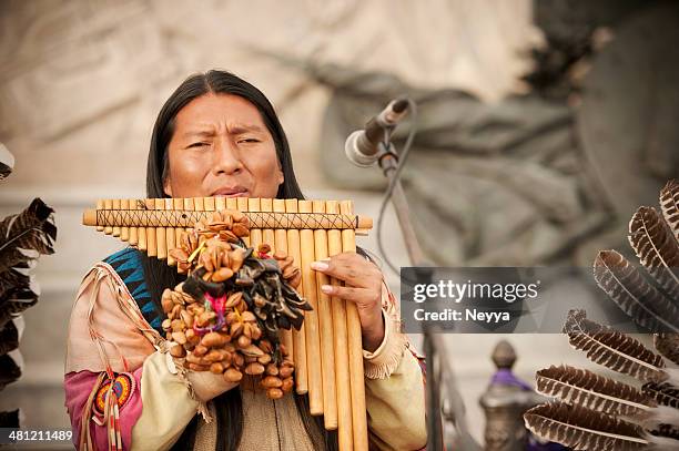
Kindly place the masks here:
<instances>
[{"instance_id":1,"label":"longest bamboo pipe, at the far right of the pan flute","mask_svg":"<svg viewBox=\"0 0 679 451\"><path fill-rule=\"evenodd\" d=\"M342 201L340 212L345 215L354 213L354 203ZM356 252L356 235L352 229L342 230L342 250ZM348 334L349 380L352 386L352 426L354 429L354 449L367 451L367 419L365 411L365 381L363 373L363 340L361 320L354 303L346 303L346 327Z\"/></svg>"}]
</instances>

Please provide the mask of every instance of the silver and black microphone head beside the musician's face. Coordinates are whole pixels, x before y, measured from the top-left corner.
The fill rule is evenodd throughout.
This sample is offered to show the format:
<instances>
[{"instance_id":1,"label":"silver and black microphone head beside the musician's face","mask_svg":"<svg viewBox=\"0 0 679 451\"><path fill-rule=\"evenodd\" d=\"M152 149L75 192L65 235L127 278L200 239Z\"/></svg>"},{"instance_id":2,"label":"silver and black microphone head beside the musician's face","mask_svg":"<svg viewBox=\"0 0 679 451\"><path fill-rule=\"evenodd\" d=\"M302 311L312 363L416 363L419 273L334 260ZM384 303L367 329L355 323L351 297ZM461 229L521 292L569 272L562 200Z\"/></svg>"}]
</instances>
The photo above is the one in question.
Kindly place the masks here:
<instances>
[{"instance_id":1,"label":"silver and black microphone head beside the musician's face","mask_svg":"<svg viewBox=\"0 0 679 451\"><path fill-rule=\"evenodd\" d=\"M349 162L359 167L369 167L377 162L378 145L384 139L384 131L394 129L408 114L407 99L397 99L376 116L372 117L363 130L353 132L344 143L344 153Z\"/></svg>"}]
</instances>

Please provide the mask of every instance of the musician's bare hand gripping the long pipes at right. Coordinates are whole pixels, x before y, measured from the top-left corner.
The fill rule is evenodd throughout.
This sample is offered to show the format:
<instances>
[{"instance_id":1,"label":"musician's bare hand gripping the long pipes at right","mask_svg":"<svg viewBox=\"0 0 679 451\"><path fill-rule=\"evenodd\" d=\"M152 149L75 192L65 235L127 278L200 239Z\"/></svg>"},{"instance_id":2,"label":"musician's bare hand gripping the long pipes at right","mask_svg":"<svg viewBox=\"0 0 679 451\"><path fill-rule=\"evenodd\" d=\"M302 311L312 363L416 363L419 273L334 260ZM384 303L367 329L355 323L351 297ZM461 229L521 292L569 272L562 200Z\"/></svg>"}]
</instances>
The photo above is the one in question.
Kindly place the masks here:
<instances>
[{"instance_id":1,"label":"musician's bare hand gripping the long pipes at right","mask_svg":"<svg viewBox=\"0 0 679 451\"><path fill-rule=\"evenodd\" d=\"M344 281L343 287L323 285L321 290L326 295L356 304L361 318L363 348L371 352L376 350L384 339L379 268L356 253L337 254L326 260L314 262L311 267Z\"/></svg>"}]
</instances>

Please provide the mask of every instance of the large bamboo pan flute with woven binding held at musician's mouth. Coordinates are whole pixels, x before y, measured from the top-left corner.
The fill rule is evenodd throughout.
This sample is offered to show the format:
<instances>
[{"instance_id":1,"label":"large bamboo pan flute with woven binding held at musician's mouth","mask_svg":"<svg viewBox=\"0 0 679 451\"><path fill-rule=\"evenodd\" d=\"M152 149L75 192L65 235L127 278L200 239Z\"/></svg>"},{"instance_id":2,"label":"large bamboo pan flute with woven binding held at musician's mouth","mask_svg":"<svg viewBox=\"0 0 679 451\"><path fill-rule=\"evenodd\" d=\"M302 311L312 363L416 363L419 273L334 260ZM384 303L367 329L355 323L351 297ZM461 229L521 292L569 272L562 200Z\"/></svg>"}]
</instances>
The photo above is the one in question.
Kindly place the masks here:
<instances>
[{"instance_id":1,"label":"large bamboo pan flute with woven binding held at musician's mouth","mask_svg":"<svg viewBox=\"0 0 679 451\"><path fill-rule=\"evenodd\" d=\"M119 237L150 257L175 265L169 250L181 234L214 211L237 209L250 219L252 247L262 243L293 256L302 269L297 290L312 305L301 330L283 330L282 341L295 365L296 391L308 393L311 413L324 416L325 428L337 430L341 450L367 450L361 322L353 303L331 298L322 285L338 284L311 269L314 260L355 252L355 235L372 221L356 216L351 201L271 198L102 199L83 214L83 224Z\"/></svg>"}]
</instances>

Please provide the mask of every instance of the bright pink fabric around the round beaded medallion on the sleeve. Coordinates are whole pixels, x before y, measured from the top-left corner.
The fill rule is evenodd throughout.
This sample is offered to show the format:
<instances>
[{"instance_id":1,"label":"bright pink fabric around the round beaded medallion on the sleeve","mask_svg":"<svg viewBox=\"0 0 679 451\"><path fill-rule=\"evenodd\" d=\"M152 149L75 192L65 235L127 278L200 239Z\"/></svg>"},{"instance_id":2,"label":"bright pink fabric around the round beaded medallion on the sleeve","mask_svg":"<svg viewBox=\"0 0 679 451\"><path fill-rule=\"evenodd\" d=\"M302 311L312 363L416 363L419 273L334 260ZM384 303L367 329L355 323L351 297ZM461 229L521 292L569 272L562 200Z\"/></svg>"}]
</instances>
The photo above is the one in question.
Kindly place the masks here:
<instances>
[{"instance_id":1,"label":"bright pink fabric around the round beaded medallion on the sleeve","mask_svg":"<svg viewBox=\"0 0 679 451\"><path fill-rule=\"evenodd\" d=\"M123 449L129 450L132 443L132 428L139 420L142 412L141 398L141 375L143 367L138 368L132 372L138 389L134 390L128 402L120 411L120 430L122 435ZM82 411L88 402L88 397L94 389L94 383L99 373L91 371L69 372L64 377L65 390L65 407L71 417L71 427L73 429L73 443L78 448L81 430ZM109 432L107 426L99 426L94 421L90 421L90 432L93 438L93 444L98 450L109 448Z\"/></svg>"}]
</instances>

